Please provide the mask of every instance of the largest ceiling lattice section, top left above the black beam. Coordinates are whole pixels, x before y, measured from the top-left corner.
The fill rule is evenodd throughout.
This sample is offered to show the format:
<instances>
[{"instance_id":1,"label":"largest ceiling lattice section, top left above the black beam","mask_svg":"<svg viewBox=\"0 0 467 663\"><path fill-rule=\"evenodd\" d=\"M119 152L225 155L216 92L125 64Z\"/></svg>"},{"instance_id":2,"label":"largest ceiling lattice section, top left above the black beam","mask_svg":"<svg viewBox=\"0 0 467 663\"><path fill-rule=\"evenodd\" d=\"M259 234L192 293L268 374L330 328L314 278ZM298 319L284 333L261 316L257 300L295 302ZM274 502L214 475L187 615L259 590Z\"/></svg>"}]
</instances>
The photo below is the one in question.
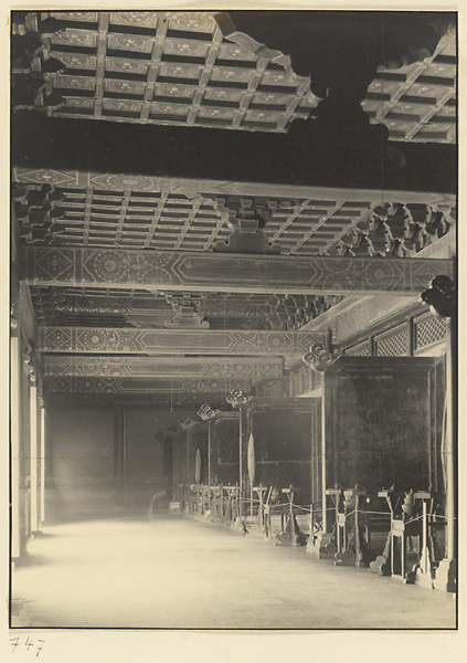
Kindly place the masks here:
<instances>
[{"instance_id":1,"label":"largest ceiling lattice section, top left above the black beam","mask_svg":"<svg viewBox=\"0 0 467 663\"><path fill-rule=\"evenodd\" d=\"M52 115L285 131L319 98L309 80L223 40L212 12L51 12L44 40L66 65Z\"/></svg>"}]
</instances>

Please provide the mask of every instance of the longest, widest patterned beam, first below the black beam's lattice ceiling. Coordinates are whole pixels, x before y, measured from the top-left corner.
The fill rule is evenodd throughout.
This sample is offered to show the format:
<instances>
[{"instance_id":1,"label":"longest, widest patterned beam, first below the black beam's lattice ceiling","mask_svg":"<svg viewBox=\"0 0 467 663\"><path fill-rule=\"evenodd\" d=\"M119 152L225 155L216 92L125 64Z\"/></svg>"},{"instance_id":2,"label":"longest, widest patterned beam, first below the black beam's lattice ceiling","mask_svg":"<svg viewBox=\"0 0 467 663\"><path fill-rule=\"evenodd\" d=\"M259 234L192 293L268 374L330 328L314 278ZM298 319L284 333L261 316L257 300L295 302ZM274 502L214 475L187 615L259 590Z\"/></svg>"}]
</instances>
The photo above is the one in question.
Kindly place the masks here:
<instances>
[{"instance_id":1,"label":"longest, widest patterned beam, first below the black beam's lattice ceiling","mask_svg":"<svg viewBox=\"0 0 467 663\"><path fill-rule=\"evenodd\" d=\"M420 293L450 260L25 246L30 285L229 293Z\"/></svg>"}]
</instances>

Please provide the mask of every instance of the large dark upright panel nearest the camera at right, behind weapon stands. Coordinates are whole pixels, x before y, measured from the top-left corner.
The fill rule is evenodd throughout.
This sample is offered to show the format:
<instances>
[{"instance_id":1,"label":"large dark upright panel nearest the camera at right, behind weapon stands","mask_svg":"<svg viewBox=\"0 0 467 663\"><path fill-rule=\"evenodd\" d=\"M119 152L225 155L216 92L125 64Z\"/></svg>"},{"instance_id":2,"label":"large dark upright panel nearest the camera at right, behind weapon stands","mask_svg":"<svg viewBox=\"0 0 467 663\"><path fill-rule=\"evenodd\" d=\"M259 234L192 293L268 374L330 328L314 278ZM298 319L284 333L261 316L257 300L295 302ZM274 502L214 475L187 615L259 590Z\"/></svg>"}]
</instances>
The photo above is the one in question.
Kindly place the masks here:
<instances>
[{"instance_id":1,"label":"large dark upright panel nearest the camera at right, behind weapon stands","mask_svg":"<svg viewBox=\"0 0 467 663\"><path fill-rule=\"evenodd\" d=\"M342 358L325 377L327 487L441 490L443 365Z\"/></svg>"}]
</instances>

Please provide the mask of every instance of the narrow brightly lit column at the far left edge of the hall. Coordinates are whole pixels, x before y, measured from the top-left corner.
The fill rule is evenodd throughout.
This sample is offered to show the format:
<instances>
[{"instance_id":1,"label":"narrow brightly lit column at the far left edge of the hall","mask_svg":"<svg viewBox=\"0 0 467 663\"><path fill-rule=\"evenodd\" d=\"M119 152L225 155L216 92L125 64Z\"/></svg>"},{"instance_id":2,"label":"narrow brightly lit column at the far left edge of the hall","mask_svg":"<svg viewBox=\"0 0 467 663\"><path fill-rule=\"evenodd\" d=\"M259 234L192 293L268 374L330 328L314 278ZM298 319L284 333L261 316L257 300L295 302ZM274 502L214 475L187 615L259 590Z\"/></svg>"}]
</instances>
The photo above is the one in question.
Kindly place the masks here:
<instances>
[{"instance_id":1,"label":"narrow brightly lit column at the far left edge of the hall","mask_svg":"<svg viewBox=\"0 0 467 663\"><path fill-rule=\"evenodd\" d=\"M17 323L18 325L18 323ZM21 555L20 449L21 449L21 370L20 338L13 333L10 340L10 453L11 453L11 557Z\"/></svg>"}]
</instances>

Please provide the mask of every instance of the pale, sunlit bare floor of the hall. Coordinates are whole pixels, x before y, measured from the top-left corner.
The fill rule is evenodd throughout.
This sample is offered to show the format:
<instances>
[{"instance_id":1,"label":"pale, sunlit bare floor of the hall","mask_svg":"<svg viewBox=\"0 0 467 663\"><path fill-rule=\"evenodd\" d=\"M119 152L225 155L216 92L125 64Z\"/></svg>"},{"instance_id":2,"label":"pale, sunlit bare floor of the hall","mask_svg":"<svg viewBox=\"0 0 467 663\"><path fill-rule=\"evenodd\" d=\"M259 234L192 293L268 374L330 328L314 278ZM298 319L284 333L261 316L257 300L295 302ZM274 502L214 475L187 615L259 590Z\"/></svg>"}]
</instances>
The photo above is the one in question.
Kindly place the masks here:
<instances>
[{"instance_id":1,"label":"pale, sunlit bare floor of the hall","mask_svg":"<svg viewBox=\"0 0 467 663\"><path fill-rule=\"evenodd\" d=\"M454 594L177 514L42 533L12 575L13 628L455 628Z\"/></svg>"}]
</instances>

